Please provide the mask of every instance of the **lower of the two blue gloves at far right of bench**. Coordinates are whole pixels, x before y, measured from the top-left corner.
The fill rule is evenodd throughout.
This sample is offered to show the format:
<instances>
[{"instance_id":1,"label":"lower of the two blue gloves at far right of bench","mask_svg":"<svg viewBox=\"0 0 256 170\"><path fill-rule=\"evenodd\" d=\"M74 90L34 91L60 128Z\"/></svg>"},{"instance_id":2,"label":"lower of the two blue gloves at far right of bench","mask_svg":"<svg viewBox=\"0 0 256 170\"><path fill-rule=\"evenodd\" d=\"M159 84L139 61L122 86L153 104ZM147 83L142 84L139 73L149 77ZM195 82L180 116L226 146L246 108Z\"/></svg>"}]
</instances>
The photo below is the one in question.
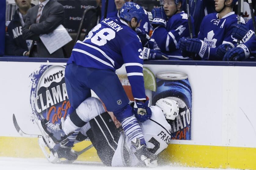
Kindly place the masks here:
<instances>
[{"instance_id":1,"label":"lower of the two blue gloves at far right of bench","mask_svg":"<svg viewBox=\"0 0 256 170\"><path fill-rule=\"evenodd\" d=\"M223 61L242 61L250 56L250 49L244 44L230 49L224 56Z\"/></svg>"}]
</instances>

